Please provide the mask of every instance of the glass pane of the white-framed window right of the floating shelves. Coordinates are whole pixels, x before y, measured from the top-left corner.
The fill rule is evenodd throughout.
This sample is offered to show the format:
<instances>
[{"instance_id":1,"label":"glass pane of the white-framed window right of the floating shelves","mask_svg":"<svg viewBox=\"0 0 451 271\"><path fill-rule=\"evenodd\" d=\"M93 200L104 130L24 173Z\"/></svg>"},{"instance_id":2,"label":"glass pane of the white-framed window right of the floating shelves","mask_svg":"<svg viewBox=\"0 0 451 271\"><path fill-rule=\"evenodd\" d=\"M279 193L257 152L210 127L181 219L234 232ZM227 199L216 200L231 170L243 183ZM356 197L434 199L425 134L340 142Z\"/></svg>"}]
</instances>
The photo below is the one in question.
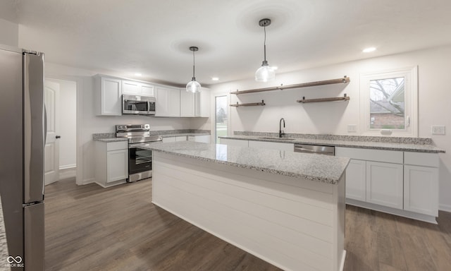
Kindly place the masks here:
<instances>
[{"instance_id":1,"label":"glass pane of the white-framed window right of the floating shelves","mask_svg":"<svg viewBox=\"0 0 451 271\"><path fill-rule=\"evenodd\" d=\"M370 128L404 129L404 77L370 80Z\"/></svg>"}]
</instances>

